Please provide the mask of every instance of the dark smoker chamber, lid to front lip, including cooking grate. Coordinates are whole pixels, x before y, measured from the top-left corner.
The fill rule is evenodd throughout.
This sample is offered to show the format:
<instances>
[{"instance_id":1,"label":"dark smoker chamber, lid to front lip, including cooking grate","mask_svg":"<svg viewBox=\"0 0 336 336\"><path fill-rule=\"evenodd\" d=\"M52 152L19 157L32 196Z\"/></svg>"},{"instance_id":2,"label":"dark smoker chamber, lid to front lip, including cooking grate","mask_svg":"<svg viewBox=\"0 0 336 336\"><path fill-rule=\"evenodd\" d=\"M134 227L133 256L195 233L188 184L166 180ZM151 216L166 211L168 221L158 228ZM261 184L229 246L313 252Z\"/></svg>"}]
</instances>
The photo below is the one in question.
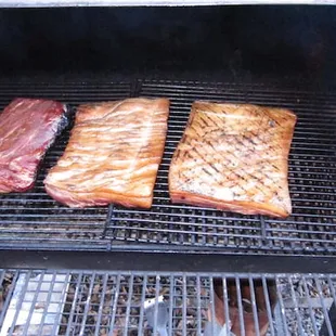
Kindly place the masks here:
<instances>
[{"instance_id":1,"label":"dark smoker chamber, lid to front lip, including cooking grate","mask_svg":"<svg viewBox=\"0 0 336 336\"><path fill-rule=\"evenodd\" d=\"M42 180L68 129L48 152L34 190L0 196L1 267L128 269L131 260L141 270L336 271L336 8L2 9L0 74L1 108L15 96L74 107L171 99L152 209L73 210L48 197ZM169 161L197 99L298 115L289 156L293 216L169 203Z\"/></svg>"}]
</instances>

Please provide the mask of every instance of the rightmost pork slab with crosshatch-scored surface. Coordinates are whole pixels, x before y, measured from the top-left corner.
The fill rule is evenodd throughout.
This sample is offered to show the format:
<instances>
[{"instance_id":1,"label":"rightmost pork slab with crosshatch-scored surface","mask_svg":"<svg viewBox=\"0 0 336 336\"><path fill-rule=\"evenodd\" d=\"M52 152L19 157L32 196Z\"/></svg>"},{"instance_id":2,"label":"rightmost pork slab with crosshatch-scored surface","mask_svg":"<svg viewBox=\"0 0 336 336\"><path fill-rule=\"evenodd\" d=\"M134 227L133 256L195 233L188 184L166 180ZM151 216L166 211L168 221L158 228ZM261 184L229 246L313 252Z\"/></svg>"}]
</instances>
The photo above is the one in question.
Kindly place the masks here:
<instances>
[{"instance_id":1,"label":"rightmost pork slab with crosshatch-scored surface","mask_svg":"<svg viewBox=\"0 0 336 336\"><path fill-rule=\"evenodd\" d=\"M195 102L169 170L172 203L287 217L288 109Z\"/></svg>"}]
</instances>

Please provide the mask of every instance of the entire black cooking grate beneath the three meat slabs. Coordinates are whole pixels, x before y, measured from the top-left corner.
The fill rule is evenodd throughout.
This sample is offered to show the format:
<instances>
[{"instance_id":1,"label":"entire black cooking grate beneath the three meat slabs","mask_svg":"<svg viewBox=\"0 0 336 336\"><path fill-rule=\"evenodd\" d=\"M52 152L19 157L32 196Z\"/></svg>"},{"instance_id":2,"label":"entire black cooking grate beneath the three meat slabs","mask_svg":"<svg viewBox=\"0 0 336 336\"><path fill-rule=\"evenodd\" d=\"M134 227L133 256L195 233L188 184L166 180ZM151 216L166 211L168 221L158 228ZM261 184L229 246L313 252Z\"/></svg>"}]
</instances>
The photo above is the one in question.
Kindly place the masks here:
<instances>
[{"instance_id":1,"label":"entire black cooking grate beneath the three meat slabs","mask_svg":"<svg viewBox=\"0 0 336 336\"><path fill-rule=\"evenodd\" d=\"M1 248L169 249L217 253L331 255L336 251L336 95L253 85L135 81L134 83L0 83L0 107L11 99L46 96L76 106L132 95L171 100L168 137L152 209L119 206L68 209L42 181L68 133L48 152L37 185L0 196ZM249 102L292 108L298 124L289 157L294 212L286 220L171 205L167 173L194 100ZM154 245L155 244L155 245Z\"/></svg>"}]
</instances>

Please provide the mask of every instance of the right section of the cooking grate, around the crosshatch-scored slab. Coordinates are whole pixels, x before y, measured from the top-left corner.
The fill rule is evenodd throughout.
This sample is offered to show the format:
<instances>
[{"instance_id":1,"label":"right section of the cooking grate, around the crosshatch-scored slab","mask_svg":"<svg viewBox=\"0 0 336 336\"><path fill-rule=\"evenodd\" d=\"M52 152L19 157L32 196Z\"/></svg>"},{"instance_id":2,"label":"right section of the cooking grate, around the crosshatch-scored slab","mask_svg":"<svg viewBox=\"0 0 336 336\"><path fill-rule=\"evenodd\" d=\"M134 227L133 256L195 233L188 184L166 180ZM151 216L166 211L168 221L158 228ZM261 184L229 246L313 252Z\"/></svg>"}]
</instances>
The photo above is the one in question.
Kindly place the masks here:
<instances>
[{"instance_id":1,"label":"right section of the cooking grate, around the crosshatch-scored slab","mask_svg":"<svg viewBox=\"0 0 336 336\"><path fill-rule=\"evenodd\" d=\"M336 100L327 93L293 92L253 86L144 82L144 96L171 101L165 155L151 211L114 206L107 236L116 243L168 244L172 249L249 253L327 254L335 251ZM188 205L172 205L168 169L194 100L248 102L292 108L298 115L289 156L293 215L286 220L241 216Z\"/></svg>"}]
</instances>

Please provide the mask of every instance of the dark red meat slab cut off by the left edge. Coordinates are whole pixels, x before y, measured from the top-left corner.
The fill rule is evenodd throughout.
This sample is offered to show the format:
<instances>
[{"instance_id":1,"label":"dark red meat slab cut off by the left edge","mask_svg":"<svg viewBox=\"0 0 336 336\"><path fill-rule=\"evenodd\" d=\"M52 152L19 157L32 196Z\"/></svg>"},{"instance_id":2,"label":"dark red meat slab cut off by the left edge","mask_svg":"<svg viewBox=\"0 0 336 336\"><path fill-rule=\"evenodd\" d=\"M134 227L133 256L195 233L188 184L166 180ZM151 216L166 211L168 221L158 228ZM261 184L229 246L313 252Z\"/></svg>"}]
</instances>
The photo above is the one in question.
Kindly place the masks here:
<instances>
[{"instance_id":1,"label":"dark red meat slab cut off by the left edge","mask_svg":"<svg viewBox=\"0 0 336 336\"><path fill-rule=\"evenodd\" d=\"M60 102L15 99L0 114L0 193L34 185L39 163L67 125Z\"/></svg>"}]
</instances>

